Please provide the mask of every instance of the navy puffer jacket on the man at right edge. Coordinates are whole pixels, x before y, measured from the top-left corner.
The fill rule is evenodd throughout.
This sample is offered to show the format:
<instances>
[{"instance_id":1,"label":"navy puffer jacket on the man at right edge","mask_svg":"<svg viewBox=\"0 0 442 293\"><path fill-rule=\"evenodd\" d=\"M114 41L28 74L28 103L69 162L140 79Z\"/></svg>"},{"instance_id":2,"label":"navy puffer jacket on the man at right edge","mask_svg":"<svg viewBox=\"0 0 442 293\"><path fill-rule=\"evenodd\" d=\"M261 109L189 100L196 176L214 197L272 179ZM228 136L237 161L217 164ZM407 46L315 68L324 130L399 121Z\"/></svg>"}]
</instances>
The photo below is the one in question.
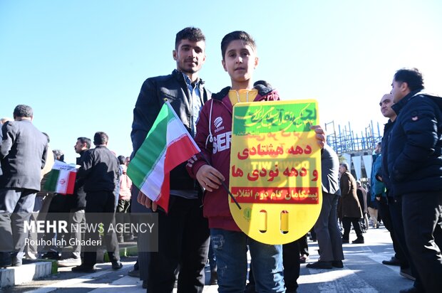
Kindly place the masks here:
<instances>
[{"instance_id":1,"label":"navy puffer jacket on the man at right edge","mask_svg":"<svg viewBox=\"0 0 442 293\"><path fill-rule=\"evenodd\" d=\"M442 98L414 91L392 109L386 154L394 196L442 190Z\"/></svg>"}]
</instances>

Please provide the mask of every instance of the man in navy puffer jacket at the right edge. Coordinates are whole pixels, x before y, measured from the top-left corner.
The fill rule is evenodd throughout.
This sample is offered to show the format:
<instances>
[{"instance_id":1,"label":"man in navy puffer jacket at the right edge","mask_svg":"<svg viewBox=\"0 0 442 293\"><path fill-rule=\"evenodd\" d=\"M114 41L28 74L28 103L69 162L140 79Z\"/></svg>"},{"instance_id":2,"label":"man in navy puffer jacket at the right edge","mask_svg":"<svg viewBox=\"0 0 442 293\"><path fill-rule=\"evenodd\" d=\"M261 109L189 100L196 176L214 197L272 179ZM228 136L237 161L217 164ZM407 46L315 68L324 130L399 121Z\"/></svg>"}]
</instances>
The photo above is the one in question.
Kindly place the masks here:
<instances>
[{"instance_id":1,"label":"man in navy puffer jacket at the right edge","mask_svg":"<svg viewBox=\"0 0 442 293\"><path fill-rule=\"evenodd\" d=\"M397 117L384 168L394 196L402 199L406 245L418 277L426 292L441 292L442 98L422 92L416 68L398 70L391 87Z\"/></svg>"}]
</instances>

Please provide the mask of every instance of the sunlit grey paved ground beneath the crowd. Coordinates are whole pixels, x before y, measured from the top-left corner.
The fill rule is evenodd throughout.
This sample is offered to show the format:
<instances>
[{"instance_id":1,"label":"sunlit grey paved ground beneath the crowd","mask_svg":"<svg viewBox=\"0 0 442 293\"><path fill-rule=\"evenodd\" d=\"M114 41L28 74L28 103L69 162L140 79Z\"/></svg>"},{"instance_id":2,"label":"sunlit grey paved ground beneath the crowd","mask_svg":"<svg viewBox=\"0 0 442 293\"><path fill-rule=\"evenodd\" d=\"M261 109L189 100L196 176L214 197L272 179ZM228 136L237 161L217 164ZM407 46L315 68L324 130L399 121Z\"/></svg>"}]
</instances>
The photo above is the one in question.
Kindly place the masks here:
<instances>
[{"instance_id":1,"label":"sunlit grey paved ground beneath the crowd","mask_svg":"<svg viewBox=\"0 0 442 293\"><path fill-rule=\"evenodd\" d=\"M353 232L350 240L355 239ZM312 270L301 266L298 279L299 293L307 292L399 292L412 286L412 282L399 275L399 267L382 265L381 261L393 255L391 239L385 228L372 229L365 234L365 244L344 244L344 268L335 270ZM309 242L310 260L317 260L317 243ZM80 274L61 268L57 275L0 292L72 292L72 293L141 293L141 282L127 273L135 258L127 257L124 267L117 272L110 265L98 265L101 270L93 274ZM207 268L207 279L210 272ZM217 292L217 286L206 286L204 292Z\"/></svg>"}]
</instances>

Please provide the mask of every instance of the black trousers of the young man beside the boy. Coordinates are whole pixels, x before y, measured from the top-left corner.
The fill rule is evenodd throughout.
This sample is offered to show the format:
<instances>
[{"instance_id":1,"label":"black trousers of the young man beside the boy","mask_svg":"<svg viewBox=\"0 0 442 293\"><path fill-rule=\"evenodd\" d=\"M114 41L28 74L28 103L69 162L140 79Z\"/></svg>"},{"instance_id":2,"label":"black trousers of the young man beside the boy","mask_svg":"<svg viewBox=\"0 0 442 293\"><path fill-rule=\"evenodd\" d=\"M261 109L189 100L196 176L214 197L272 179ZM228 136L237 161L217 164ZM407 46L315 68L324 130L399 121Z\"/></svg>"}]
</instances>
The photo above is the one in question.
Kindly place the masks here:
<instances>
[{"instance_id":1,"label":"black trousers of the young man beside the boy","mask_svg":"<svg viewBox=\"0 0 442 293\"><path fill-rule=\"evenodd\" d=\"M200 199L170 196L169 213L158 211L158 252L150 253L148 292L202 292L210 244Z\"/></svg>"}]
</instances>

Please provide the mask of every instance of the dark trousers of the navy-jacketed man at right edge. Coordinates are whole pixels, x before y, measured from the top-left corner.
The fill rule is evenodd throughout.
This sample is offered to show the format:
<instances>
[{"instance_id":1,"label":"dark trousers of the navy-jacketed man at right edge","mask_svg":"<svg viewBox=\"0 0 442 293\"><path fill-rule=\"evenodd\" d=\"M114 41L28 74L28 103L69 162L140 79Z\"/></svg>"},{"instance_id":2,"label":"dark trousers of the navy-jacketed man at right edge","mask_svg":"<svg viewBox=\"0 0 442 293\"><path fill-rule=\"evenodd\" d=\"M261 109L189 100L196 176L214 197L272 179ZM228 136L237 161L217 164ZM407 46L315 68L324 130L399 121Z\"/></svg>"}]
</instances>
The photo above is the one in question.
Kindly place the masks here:
<instances>
[{"instance_id":1,"label":"dark trousers of the navy-jacketed man at right edge","mask_svg":"<svg viewBox=\"0 0 442 293\"><path fill-rule=\"evenodd\" d=\"M406 245L426 292L442 288L442 191L402 195Z\"/></svg>"}]
</instances>

